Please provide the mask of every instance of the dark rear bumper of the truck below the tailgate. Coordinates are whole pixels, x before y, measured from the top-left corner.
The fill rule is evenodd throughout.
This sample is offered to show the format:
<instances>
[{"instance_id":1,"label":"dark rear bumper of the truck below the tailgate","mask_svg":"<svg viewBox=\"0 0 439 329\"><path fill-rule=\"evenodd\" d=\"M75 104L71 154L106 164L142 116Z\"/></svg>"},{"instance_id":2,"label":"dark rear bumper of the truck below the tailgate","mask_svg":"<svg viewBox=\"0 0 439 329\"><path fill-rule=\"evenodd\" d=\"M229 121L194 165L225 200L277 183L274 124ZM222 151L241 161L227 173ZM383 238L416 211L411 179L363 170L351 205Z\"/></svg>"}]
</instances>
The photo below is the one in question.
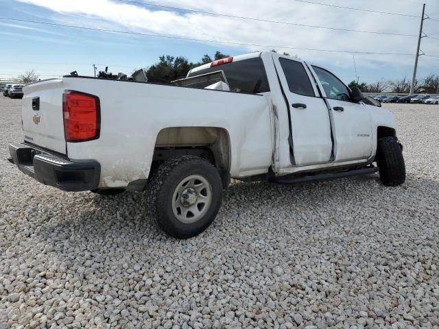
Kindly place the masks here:
<instances>
[{"instance_id":1,"label":"dark rear bumper of the truck below the tailgate","mask_svg":"<svg viewBox=\"0 0 439 329\"><path fill-rule=\"evenodd\" d=\"M62 191L90 191L99 186L101 166L95 160L69 160L33 145L9 145L12 162L26 175Z\"/></svg>"}]
</instances>

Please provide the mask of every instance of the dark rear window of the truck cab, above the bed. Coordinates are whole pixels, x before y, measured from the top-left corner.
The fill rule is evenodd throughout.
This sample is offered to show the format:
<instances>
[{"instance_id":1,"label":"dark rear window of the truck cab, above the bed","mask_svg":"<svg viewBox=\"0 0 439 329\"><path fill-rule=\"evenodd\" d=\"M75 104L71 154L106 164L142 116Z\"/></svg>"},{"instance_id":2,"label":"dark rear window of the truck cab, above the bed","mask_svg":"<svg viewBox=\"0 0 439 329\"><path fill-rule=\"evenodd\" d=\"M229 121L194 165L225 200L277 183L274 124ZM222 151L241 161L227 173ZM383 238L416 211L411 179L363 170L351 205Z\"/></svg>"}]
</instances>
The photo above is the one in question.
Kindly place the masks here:
<instances>
[{"instance_id":1,"label":"dark rear window of the truck cab, above the bed","mask_svg":"<svg viewBox=\"0 0 439 329\"><path fill-rule=\"evenodd\" d=\"M258 94L270 91L265 67L259 57L209 67L208 69L193 72L189 74L189 77L219 70L224 71L228 86L235 93Z\"/></svg>"}]
</instances>

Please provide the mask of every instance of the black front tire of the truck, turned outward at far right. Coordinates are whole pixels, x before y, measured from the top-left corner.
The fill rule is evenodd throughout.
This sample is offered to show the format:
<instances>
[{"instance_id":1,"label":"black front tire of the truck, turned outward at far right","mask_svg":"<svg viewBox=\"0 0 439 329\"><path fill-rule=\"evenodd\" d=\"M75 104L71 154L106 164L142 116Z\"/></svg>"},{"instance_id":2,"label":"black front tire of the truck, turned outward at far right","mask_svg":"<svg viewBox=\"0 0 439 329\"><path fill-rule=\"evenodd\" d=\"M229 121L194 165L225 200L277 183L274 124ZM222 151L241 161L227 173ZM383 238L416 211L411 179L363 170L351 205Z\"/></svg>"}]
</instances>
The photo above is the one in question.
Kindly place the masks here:
<instances>
[{"instance_id":1,"label":"black front tire of the truck, turned outward at far right","mask_svg":"<svg viewBox=\"0 0 439 329\"><path fill-rule=\"evenodd\" d=\"M377 165L379 178L385 186L398 186L405 182L403 151L396 138L379 138Z\"/></svg>"}]
</instances>

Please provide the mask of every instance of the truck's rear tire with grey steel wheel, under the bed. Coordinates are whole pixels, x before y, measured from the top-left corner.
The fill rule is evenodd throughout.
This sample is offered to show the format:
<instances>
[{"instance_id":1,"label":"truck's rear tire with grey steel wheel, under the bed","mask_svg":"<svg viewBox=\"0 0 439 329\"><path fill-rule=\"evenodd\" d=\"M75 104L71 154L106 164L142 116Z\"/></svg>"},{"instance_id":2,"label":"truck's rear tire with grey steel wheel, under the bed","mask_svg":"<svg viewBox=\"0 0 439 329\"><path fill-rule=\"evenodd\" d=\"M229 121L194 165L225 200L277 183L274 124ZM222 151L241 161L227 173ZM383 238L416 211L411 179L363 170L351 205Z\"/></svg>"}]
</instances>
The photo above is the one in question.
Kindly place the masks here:
<instances>
[{"instance_id":1,"label":"truck's rear tire with grey steel wheel, under the bed","mask_svg":"<svg viewBox=\"0 0 439 329\"><path fill-rule=\"evenodd\" d=\"M158 228L174 238L189 239L215 219L222 202L222 180L211 162L179 156L152 175L147 200Z\"/></svg>"}]
</instances>

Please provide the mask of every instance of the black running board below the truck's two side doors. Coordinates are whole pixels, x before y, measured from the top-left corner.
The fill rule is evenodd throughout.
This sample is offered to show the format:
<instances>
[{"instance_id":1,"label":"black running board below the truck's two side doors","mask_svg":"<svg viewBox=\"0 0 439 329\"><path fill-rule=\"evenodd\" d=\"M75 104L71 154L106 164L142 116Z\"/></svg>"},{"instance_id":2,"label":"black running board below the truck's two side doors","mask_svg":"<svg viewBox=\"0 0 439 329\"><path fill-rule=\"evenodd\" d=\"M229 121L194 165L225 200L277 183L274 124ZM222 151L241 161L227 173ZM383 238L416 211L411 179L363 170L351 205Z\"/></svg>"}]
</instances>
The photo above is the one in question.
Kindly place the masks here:
<instances>
[{"instance_id":1,"label":"black running board below the truck's two side doors","mask_svg":"<svg viewBox=\"0 0 439 329\"><path fill-rule=\"evenodd\" d=\"M336 180L337 178L346 178L357 175L369 175L371 173L376 173L378 167L367 167L362 169L355 169L350 171L340 171L338 173L320 173L316 175L307 175L302 177L294 177L294 175L287 175L281 177L273 177L270 182L278 184L299 184L306 182L320 182L323 180Z\"/></svg>"}]
</instances>

